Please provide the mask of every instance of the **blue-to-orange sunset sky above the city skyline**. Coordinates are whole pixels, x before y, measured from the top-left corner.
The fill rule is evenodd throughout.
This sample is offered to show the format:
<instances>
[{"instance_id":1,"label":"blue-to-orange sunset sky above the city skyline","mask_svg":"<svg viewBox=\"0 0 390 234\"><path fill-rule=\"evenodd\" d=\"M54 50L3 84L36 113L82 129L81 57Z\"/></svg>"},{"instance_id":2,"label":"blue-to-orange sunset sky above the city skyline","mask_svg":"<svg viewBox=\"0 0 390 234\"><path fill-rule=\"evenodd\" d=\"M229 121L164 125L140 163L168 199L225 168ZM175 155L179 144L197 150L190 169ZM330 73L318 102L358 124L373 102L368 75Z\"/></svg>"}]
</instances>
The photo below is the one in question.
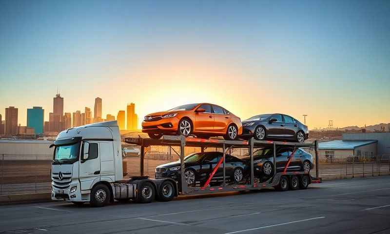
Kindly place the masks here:
<instances>
[{"instance_id":1,"label":"blue-to-orange sunset sky above the city skyline","mask_svg":"<svg viewBox=\"0 0 390 234\"><path fill-rule=\"evenodd\" d=\"M390 1L1 1L0 114L211 102L311 129L390 122Z\"/></svg>"}]
</instances>

